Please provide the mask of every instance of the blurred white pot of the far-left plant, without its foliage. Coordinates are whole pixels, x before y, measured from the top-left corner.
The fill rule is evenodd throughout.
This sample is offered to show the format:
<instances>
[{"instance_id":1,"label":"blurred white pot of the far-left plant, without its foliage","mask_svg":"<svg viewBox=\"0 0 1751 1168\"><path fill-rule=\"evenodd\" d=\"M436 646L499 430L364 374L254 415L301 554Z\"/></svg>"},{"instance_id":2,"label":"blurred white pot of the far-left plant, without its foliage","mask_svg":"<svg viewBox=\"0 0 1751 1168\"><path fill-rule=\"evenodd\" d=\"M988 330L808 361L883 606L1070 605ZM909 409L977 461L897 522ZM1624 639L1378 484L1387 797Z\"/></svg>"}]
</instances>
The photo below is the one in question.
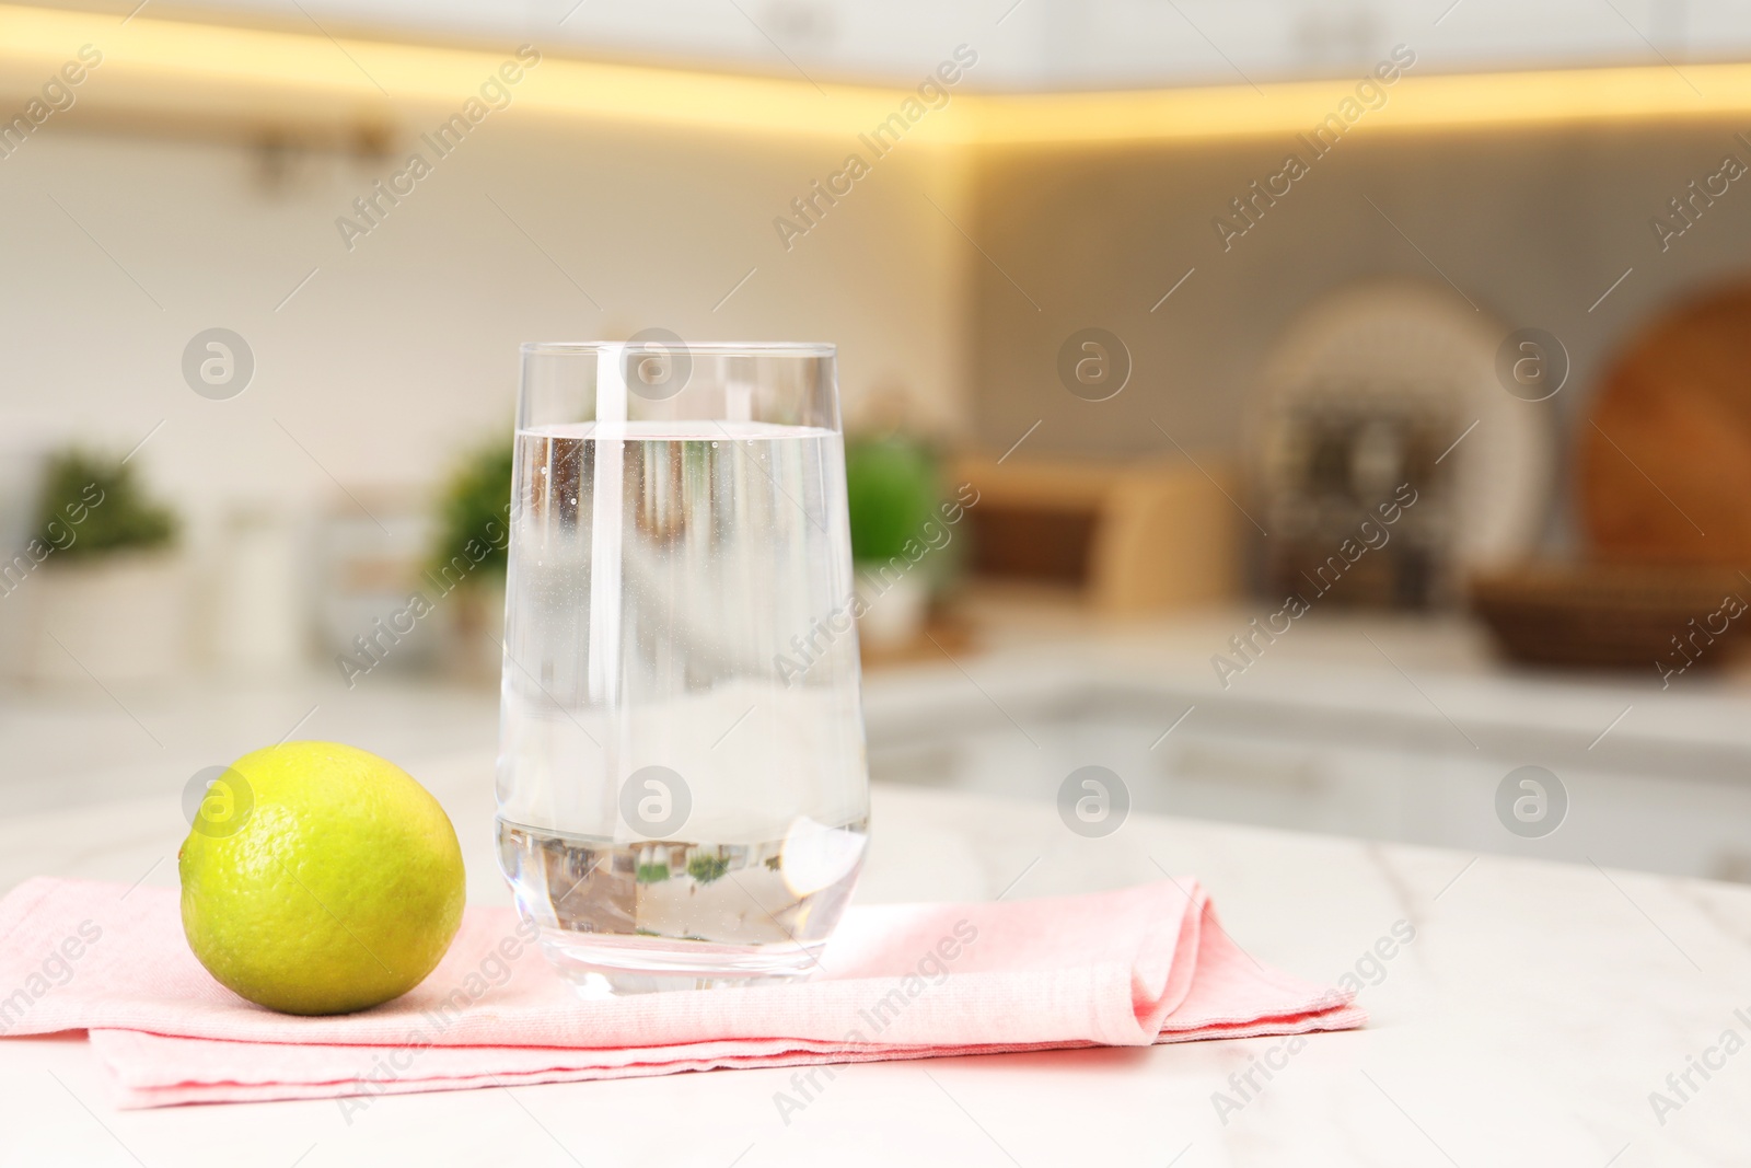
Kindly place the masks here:
<instances>
[{"instance_id":1,"label":"blurred white pot of the far-left plant, without its foliage","mask_svg":"<svg viewBox=\"0 0 1751 1168\"><path fill-rule=\"evenodd\" d=\"M12 620L19 672L30 681L151 681L189 665L189 580L173 552L89 560L49 555L0 604Z\"/></svg>"}]
</instances>

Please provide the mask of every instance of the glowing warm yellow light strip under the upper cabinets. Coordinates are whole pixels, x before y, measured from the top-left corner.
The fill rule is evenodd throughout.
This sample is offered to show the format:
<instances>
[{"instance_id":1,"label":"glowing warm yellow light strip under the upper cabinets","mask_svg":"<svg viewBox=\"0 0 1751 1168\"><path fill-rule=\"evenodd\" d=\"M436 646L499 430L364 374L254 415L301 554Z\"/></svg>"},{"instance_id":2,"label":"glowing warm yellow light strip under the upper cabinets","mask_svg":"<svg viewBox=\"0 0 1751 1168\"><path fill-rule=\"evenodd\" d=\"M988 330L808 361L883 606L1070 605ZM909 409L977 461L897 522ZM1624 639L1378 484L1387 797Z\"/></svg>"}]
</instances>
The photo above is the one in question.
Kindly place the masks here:
<instances>
[{"instance_id":1,"label":"glowing warm yellow light strip under the upper cabinets","mask_svg":"<svg viewBox=\"0 0 1751 1168\"><path fill-rule=\"evenodd\" d=\"M510 53L329 40L137 16L0 5L0 114L18 107L79 46L103 53L81 103L138 116L394 117L455 112ZM538 46L539 47L539 46ZM937 145L1292 137L1338 112L1354 82L1205 86L1129 93L956 93L905 131ZM1362 116L1375 130L1730 119L1751 130L1751 65L1665 65L1529 74L1415 75ZM900 109L905 89L597 65L545 53L513 88L539 114L683 130L835 138L856 149Z\"/></svg>"}]
</instances>

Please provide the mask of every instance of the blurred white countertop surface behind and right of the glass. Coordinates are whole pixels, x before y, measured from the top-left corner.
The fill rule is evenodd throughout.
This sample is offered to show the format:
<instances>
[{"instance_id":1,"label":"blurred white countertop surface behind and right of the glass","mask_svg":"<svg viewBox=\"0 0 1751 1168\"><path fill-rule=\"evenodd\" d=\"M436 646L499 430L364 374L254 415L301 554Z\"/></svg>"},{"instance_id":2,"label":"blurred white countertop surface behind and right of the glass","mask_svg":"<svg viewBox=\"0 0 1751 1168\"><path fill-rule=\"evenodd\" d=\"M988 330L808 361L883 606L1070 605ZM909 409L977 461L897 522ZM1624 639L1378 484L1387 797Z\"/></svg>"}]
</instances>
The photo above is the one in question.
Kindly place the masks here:
<instances>
[{"instance_id":1,"label":"blurred white countertop surface behind and right of the glass","mask_svg":"<svg viewBox=\"0 0 1751 1168\"><path fill-rule=\"evenodd\" d=\"M1238 714L1250 723L1268 713L1264 732L1394 735L1453 751L1567 756L1578 744L1595 762L1642 765L1681 749L1686 763L1721 763L1711 777L1751 779L1747 667L1691 669L1662 688L1653 662L1646 672L1599 674L1504 664L1481 625L1460 616L1326 611L1269 644L1259 637L1262 650L1247 662L1231 637L1248 636L1255 615L1234 608L1103 620L1059 604L988 601L965 650L870 672L870 728L886 735L898 730L890 720L930 720L932 709L967 716L968 693L979 697L982 686L988 709L1009 697L1035 716L1156 699L1156 713L1175 716L1196 704L1199 721ZM1224 676L1215 657L1243 669Z\"/></svg>"}]
</instances>

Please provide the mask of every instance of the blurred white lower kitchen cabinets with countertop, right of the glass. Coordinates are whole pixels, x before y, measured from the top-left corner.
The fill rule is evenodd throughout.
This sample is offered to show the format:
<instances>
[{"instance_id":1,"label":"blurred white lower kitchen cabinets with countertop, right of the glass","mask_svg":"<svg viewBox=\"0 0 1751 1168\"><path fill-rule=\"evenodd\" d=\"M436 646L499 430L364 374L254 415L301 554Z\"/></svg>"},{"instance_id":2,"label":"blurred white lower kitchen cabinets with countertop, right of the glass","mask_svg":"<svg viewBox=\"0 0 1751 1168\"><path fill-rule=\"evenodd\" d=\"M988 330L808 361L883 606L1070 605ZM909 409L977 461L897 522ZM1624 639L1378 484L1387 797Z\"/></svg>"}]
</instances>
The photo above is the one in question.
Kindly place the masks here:
<instances>
[{"instance_id":1,"label":"blurred white lower kitchen cabinets with countertop, right of the glass","mask_svg":"<svg viewBox=\"0 0 1751 1168\"><path fill-rule=\"evenodd\" d=\"M1121 671L1096 655L1017 653L967 664L982 692L953 671L877 674L872 777L1056 800L1072 770L1101 765L1143 813L1751 883L1751 720L1735 692L1424 674L1448 721L1383 664L1306 665L1299 679L1285 671L1276 686L1227 693L1180 664ZM1467 686L1494 695L1488 706L1467 709ZM1574 725L1625 706L1639 716L1597 742L1609 713ZM1522 765L1567 790L1565 820L1541 839L1497 820L1497 786Z\"/></svg>"}]
</instances>

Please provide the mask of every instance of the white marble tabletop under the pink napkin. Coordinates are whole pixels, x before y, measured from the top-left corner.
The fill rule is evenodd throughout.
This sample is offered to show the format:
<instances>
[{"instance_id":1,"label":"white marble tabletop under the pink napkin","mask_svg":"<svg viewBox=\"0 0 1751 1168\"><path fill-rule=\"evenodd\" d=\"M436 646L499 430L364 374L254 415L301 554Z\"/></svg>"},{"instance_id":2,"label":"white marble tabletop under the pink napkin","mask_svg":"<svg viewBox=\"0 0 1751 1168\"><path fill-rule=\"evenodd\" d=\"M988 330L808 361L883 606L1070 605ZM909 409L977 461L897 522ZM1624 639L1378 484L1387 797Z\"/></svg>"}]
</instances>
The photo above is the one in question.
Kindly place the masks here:
<instances>
[{"instance_id":1,"label":"white marble tabletop under the pink napkin","mask_svg":"<svg viewBox=\"0 0 1751 1168\"><path fill-rule=\"evenodd\" d=\"M490 758L413 765L490 862ZM114 1112L77 1037L0 1040L0 1164L1744 1164L1751 890L1674 877L1131 816L1080 839L1054 809L886 788L860 897L991 898L1199 876L1261 961L1361 972L1373 1023L1315 1035L846 1068L786 1124L790 1072ZM0 890L33 874L175 881L175 792L0 825ZM1159 867L1157 867L1159 865ZM1397 923L1415 940L1382 944ZM1406 930L1401 925L1399 933ZM0 944L5 944L0 939ZM1389 960L1371 956L1390 951ZM0 988L4 989L4 988ZM1681 1107L1655 1115L1688 1056ZM1282 1065L1238 1110L1229 1077ZM928 1072L928 1075L926 1075ZM1679 1101L1672 1094L1674 1101Z\"/></svg>"}]
</instances>

